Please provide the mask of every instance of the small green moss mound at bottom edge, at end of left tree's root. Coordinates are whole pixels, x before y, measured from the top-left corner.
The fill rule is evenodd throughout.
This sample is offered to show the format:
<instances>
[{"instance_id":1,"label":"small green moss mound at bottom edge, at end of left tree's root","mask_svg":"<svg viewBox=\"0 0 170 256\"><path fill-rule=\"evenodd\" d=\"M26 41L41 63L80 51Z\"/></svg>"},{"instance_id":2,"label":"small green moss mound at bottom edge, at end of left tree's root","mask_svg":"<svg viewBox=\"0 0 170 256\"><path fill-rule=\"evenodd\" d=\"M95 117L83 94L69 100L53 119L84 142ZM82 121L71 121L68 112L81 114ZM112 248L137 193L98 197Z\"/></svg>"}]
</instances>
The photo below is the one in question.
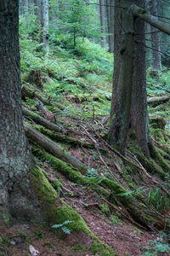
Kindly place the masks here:
<instances>
[{"instance_id":1,"label":"small green moss mound at bottom edge, at end of left tree's root","mask_svg":"<svg viewBox=\"0 0 170 256\"><path fill-rule=\"evenodd\" d=\"M116 256L117 255L111 248L106 247L102 243L94 242L91 246L91 251L93 254L99 255L99 256Z\"/></svg>"}]
</instances>

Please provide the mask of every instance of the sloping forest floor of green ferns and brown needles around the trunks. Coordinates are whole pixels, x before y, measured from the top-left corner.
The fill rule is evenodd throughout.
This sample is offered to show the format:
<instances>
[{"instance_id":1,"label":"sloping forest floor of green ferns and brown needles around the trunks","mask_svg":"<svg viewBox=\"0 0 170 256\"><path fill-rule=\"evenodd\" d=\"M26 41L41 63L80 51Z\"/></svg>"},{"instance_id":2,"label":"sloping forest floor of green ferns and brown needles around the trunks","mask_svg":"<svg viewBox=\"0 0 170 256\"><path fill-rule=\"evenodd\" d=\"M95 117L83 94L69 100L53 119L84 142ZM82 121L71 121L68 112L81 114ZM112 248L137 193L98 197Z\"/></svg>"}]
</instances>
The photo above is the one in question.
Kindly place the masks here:
<instances>
[{"instance_id":1,"label":"sloping forest floor of green ferns and brown needles around the trunks","mask_svg":"<svg viewBox=\"0 0 170 256\"><path fill-rule=\"evenodd\" d=\"M167 219L170 209L169 198L167 199L166 195L170 188L169 180L162 181L154 172L150 172L149 174L153 175L158 183L156 185L150 180L150 176L145 176L145 173L141 172L144 171L143 168L137 166L135 169L133 166L132 169L127 166L122 157L112 152L111 148L108 148L101 140L105 138L109 129L107 121L111 108L112 57L108 57L108 53L105 52L100 55L101 49L99 52L95 49L96 53L94 53L94 44L91 52L88 54L86 52L84 59L68 54L66 50L59 47L57 49L58 52L55 50L56 56L51 56L50 61L46 60L46 64L41 63L42 66L37 70L36 67L33 70L30 68L34 62L40 65L42 60L35 60L37 56L34 56L34 59L26 59L26 61L32 61L29 65L21 61L21 69L24 73L22 73L22 100L24 109L36 113L38 117L49 121L50 125L51 123L57 125L61 131L54 132L49 127L45 127L46 130L43 131L44 126L40 125L40 119L35 119L32 114L26 112L23 113L25 124L41 131L46 137L50 137L55 145L64 148L66 152L80 160L88 168L88 171L81 172L82 177L86 180L88 178L90 181L94 180L94 183L81 184L77 180L73 181L65 177L65 174L54 168L48 159L42 160L37 155L40 145L30 141L38 166L42 168L51 184L56 178L59 180L61 186L59 191L56 191L59 199L80 214L89 230L105 245L111 247L117 255L169 255L170 236L169 233L165 233L166 225L161 230L151 224L144 226L133 218L135 212L129 212L128 207L119 201L123 196L125 198L128 195L134 195L135 198L139 196L142 202L148 204L148 209L157 214L157 218ZM21 52L23 58L26 54L26 52L24 54ZM90 61L86 59L87 56ZM35 78L33 78L34 75ZM157 102L156 99L156 102L149 104L150 134L154 142L158 143L162 153L162 148L169 150L170 147L170 103L169 92L165 90L165 88L168 90L168 79L165 73L161 73L159 77L158 73L150 70L148 81L150 98L167 96L165 102ZM156 89L156 84L158 84L158 89ZM39 87L43 85L43 88L37 85ZM49 130L53 131L53 134ZM97 136L98 134L100 137ZM138 152L135 151L136 148L132 145L132 141L133 134L127 143L127 159L132 162L131 166L140 164L134 155ZM170 166L168 155L166 160L167 165ZM114 195L115 203L110 201L110 196L104 196L104 194L110 195L111 189L104 187L105 193L100 195L95 190L95 186L98 187L102 177L121 184L124 189L127 189L127 194ZM139 209L140 207L141 203ZM63 223L57 224L64 225ZM61 231L60 235L60 238L56 236L51 226L36 226L30 223L17 223L11 227L1 226L0 255L110 255L96 253L91 247L92 238L82 231L67 235ZM30 246L33 247L32 252L29 249Z\"/></svg>"}]
</instances>

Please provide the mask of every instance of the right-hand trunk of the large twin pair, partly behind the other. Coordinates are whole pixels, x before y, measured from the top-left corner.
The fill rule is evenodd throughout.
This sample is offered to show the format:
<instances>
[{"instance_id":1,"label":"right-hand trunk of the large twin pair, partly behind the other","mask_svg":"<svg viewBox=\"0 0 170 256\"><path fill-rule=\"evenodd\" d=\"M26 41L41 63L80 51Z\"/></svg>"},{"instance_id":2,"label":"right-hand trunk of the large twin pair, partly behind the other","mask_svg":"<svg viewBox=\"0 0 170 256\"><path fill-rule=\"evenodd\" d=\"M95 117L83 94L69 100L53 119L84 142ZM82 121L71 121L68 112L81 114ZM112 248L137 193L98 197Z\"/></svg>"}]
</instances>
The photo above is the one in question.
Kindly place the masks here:
<instances>
[{"instance_id":1,"label":"right-hand trunk of the large twin pair, partly behind the other","mask_svg":"<svg viewBox=\"0 0 170 256\"><path fill-rule=\"evenodd\" d=\"M140 7L145 8L143 0L135 1ZM144 49L144 20L135 20L135 57L133 68L133 90L131 106L131 127L135 131L139 147L144 154L149 155L148 143L149 119L147 112L147 93L146 93L146 66Z\"/></svg>"}]
</instances>

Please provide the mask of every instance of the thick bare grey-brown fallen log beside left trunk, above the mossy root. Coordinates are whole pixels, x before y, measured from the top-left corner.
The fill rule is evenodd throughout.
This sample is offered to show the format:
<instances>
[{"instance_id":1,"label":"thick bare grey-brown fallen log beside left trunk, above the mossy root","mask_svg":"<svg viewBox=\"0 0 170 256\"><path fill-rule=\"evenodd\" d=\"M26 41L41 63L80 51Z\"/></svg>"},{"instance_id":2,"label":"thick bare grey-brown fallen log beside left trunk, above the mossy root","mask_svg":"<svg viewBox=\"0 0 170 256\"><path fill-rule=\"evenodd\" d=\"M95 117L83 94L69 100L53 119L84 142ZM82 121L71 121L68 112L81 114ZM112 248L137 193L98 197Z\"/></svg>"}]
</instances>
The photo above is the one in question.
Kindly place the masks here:
<instances>
[{"instance_id":1,"label":"thick bare grey-brown fallen log beside left trunk, above the mossy root","mask_svg":"<svg viewBox=\"0 0 170 256\"><path fill-rule=\"evenodd\" d=\"M55 157L63 160L71 166L77 168L80 172L87 171L87 167L82 164L80 160L77 160L71 154L68 154L63 148L52 141L47 137L43 136L42 133L33 129L30 125L25 125L26 136L31 140L32 143L37 143L42 148L44 148L48 153L53 154Z\"/></svg>"}]
</instances>

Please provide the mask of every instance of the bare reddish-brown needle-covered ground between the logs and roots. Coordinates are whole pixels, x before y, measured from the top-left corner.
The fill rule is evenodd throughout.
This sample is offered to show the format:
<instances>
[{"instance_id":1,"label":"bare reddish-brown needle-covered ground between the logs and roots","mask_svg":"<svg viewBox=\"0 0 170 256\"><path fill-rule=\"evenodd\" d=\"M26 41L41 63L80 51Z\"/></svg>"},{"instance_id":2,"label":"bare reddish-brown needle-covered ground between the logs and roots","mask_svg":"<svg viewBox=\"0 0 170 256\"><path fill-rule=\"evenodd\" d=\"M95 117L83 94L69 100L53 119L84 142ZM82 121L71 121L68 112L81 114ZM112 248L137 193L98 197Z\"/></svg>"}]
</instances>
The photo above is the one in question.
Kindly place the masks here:
<instances>
[{"instance_id":1,"label":"bare reddish-brown needle-covered ground between the logs and roots","mask_svg":"<svg viewBox=\"0 0 170 256\"><path fill-rule=\"evenodd\" d=\"M37 101L37 100L36 100ZM35 102L34 102L35 103ZM38 103L37 103L38 104ZM76 103L77 104L77 103ZM35 104L23 103L23 106L27 109L34 108ZM33 106L33 107L32 107ZM74 106L75 108L75 106ZM41 112L41 111L40 111ZM46 113L43 113L43 117L48 119L50 111L46 109ZM53 116L54 118L54 116ZM29 119L27 119L28 121ZM94 120L84 121L77 119L76 117L59 117L58 121L62 123L65 120L65 125L68 129L68 135L71 135L74 139L82 140L82 147L66 145L61 143L62 146L81 160L82 163L88 166L89 170L97 168L100 175L104 175L105 165L110 166L111 172L118 175L118 170L115 166L111 166L112 160L103 155L102 159L94 149L88 149L83 147L83 143L92 143L89 134L92 132L88 130L88 125L94 125ZM97 120L97 119L96 119ZM36 125L31 119L31 124ZM100 121L99 121L100 122ZM74 132L69 131L69 128ZM74 127L74 129L73 129ZM85 128L86 127L86 128ZM95 127L95 125L94 125ZM103 125L104 127L104 125ZM107 129L105 127L105 129ZM89 132L89 133L87 133ZM48 164L48 161L42 162L37 159L38 165L44 172L47 173L50 179L58 177L62 181L63 187L60 189L59 198L65 201L73 207L85 220L88 227L95 236L99 237L105 245L113 248L119 256L139 256L139 255L169 255L168 253L161 253L158 249L156 253L156 247L167 245L167 236L163 231L146 230L140 228L138 225L133 224L133 219L130 216L120 218L117 216L117 212L114 212L114 208L110 205L109 201L102 198L97 194L91 186L82 186L81 184L72 183L62 173L54 170L52 166ZM121 167L121 166L120 166ZM84 173L84 175L86 175ZM124 174L119 176L119 179L124 183ZM144 185L144 189L150 189L150 182L146 180L135 181L140 183L140 186ZM122 212L122 208L119 207L118 211ZM121 214L120 214L121 215ZM51 231L50 227L44 229L41 226L35 226L31 224L14 224L12 227L0 227L0 255L8 256L28 256L37 255L29 251L30 245L35 247L40 253L39 255L60 255L60 256L90 256L98 255L93 253L90 244L91 239L85 236L82 232L77 232L71 235L63 235L62 239L56 237ZM150 248L153 248L151 250ZM150 254L144 254L149 251Z\"/></svg>"}]
</instances>

